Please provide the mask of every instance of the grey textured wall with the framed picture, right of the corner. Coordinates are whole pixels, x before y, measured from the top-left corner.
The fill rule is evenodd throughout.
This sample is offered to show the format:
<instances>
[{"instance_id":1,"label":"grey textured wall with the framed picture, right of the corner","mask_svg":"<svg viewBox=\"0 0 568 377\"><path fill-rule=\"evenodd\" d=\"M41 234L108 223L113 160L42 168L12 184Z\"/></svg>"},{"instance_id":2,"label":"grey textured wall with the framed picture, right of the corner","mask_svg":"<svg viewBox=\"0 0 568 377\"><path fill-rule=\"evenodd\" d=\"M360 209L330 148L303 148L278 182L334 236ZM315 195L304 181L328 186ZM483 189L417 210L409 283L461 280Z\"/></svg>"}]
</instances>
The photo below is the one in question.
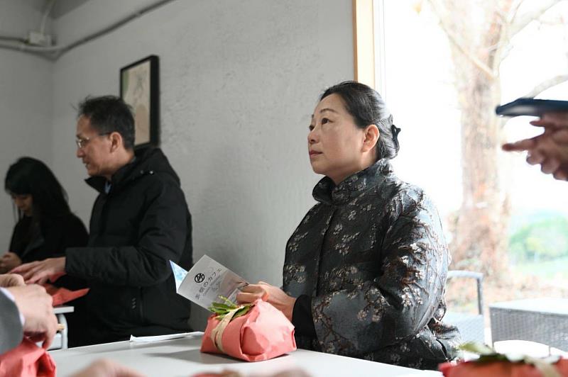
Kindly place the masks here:
<instances>
[{"instance_id":1,"label":"grey textured wall with the framed picture, right of the corner","mask_svg":"<svg viewBox=\"0 0 568 377\"><path fill-rule=\"evenodd\" d=\"M54 28L72 40L139 4L87 1ZM72 209L87 222L95 197L75 158L72 104L118 94L121 67L158 55L161 145L193 215L195 260L207 253L280 285L285 242L320 179L307 157L310 115L325 86L353 79L352 39L351 0L179 0L63 55L53 165ZM207 313L194 313L201 329Z\"/></svg>"}]
</instances>

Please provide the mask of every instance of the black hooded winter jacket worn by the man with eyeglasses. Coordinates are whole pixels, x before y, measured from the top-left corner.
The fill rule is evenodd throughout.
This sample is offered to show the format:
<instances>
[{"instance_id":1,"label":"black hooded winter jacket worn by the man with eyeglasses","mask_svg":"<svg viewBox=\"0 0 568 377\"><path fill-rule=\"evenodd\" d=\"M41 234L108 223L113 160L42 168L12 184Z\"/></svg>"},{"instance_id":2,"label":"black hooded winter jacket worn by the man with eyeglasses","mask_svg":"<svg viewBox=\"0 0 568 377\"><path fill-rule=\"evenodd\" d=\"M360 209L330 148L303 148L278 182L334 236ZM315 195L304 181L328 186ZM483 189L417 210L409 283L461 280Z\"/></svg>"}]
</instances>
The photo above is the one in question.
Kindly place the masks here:
<instances>
[{"instance_id":1,"label":"black hooded winter jacket worn by the man with eyeglasses","mask_svg":"<svg viewBox=\"0 0 568 377\"><path fill-rule=\"evenodd\" d=\"M88 282L92 325L109 342L189 330L190 304L175 293L169 261L192 265L191 216L168 159L157 148L140 150L108 193L103 177L87 184L99 191L89 244L65 251L65 271Z\"/></svg>"}]
</instances>

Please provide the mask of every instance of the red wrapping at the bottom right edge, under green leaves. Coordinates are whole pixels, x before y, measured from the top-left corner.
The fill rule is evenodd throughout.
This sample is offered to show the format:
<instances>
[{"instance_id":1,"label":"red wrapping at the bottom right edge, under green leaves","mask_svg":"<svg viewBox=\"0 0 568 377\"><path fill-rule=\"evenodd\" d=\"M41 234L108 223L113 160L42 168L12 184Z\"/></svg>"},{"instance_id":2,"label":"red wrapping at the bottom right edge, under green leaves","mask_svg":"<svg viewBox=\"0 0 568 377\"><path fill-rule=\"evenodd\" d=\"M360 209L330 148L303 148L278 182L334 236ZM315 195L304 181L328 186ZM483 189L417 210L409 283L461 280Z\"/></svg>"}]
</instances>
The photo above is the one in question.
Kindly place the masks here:
<instances>
[{"instance_id":1,"label":"red wrapping at the bottom right edge, under green leaves","mask_svg":"<svg viewBox=\"0 0 568 377\"><path fill-rule=\"evenodd\" d=\"M561 376L568 377L568 359L560 359L554 364ZM439 365L439 371L445 377L541 377L542 373L530 364L512 363L510 361L491 361L476 363L475 361L464 361L456 365L444 363Z\"/></svg>"}]
</instances>

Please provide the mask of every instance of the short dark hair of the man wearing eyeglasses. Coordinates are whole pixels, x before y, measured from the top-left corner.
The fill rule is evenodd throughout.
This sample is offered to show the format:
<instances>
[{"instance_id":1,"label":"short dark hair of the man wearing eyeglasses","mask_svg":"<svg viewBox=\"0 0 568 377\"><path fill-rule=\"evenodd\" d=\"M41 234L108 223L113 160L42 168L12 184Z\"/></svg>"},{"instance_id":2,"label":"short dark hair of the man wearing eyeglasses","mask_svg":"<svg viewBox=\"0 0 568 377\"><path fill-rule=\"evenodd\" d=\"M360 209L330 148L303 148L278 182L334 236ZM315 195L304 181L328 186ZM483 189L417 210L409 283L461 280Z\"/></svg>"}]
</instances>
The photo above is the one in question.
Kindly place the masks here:
<instances>
[{"instance_id":1,"label":"short dark hair of the man wearing eyeglasses","mask_svg":"<svg viewBox=\"0 0 568 377\"><path fill-rule=\"evenodd\" d=\"M134 147L136 130L130 106L117 96L87 96L79 103L77 117L86 116L99 133L119 133L124 147Z\"/></svg>"}]
</instances>

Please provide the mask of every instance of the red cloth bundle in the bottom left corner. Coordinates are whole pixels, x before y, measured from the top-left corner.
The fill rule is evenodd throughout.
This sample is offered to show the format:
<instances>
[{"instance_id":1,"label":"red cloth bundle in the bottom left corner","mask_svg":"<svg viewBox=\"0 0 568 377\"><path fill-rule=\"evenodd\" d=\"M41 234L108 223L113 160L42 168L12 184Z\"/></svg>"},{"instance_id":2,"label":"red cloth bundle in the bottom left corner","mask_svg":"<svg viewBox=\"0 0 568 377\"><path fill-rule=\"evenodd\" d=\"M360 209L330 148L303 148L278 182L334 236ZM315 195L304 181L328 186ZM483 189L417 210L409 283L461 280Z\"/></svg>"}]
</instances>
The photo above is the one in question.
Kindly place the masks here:
<instances>
[{"instance_id":1,"label":"red cloth bundle in the bottom left corner","mask_svg":"<svg viewBox=\"0 0 568 377\"><path fill-rule=\"evenodd\" d=\"M0 376L55 377L55 362L45 349L24 337L18 347L0 355Z\"/></svg>"}]
</instances>

